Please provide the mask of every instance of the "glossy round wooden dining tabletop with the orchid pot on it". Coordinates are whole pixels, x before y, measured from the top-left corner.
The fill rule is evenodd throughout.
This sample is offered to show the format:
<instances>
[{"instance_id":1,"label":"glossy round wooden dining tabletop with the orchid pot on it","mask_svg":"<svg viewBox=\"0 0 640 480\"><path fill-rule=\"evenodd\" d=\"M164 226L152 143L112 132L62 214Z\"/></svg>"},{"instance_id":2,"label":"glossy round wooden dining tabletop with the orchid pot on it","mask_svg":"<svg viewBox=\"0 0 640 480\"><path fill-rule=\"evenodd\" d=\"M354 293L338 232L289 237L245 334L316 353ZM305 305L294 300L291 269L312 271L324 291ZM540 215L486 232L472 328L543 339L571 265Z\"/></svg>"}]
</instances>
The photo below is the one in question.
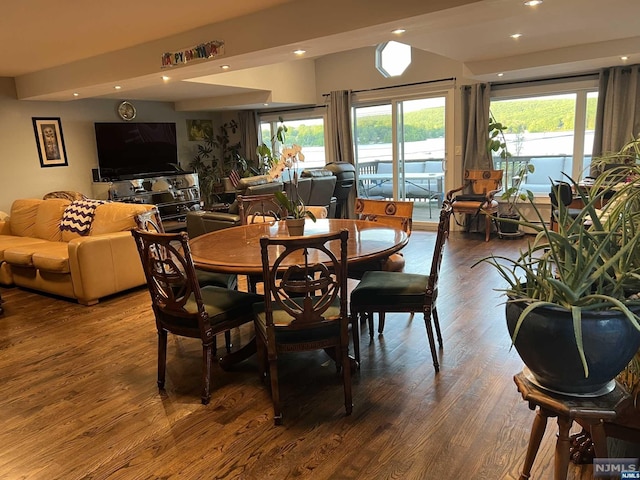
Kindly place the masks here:
<instances>
[{"instance_id":1,"label":"glossy round wooden dining tabletop with the orchid pot on it","mask_svg":"<svg viewBox=\"0 0 640 480\"><path fill-rule=\"evenodd\" d=\"M409 241L406 232L368 220L308 219L305 235L318 235L349 231L347 262L367 262L385 258L397 252ZM193 262L199 269L220 273L244 275L262 274L260 238L263 236L288 236L284 221L254 223L225 228L205 233L189 240ZM339 242L332 242L329 248L339 248ZM339 253L337 250L334 253ZM288 265L284 265L285 267Z\"/></svg>"}]
</instances>

